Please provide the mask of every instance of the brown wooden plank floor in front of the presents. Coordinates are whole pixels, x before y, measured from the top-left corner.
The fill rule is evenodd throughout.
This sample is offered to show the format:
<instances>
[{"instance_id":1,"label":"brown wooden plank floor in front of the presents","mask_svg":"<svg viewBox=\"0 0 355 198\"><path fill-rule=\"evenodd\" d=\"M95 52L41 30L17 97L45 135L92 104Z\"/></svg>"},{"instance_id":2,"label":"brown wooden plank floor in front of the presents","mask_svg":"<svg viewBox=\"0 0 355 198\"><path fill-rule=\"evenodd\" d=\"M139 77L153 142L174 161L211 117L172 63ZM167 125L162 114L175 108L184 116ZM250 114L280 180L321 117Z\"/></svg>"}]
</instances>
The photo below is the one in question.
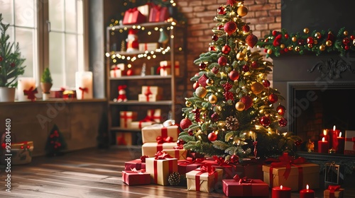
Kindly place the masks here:
<instances>
[{"instance_id":1,"label":"brown wooden plank floor in front of the presents","mask_svg":"<svg viewBox=\"0 0 355 198\"><path fill-rule=\"evenodd\" d=\"M0 171L0 197L226 197L223 192L194 192L186 187L160 185L128 186L121 180L124 162L141 156L140 149L90 148L56 157L35 157L27 165L11 166L11 193L6 192L4 165ZM355 197L355 180L346 198ZM352 188L351 188L352 187ZM317 190L323 197L323 190ZM298 193L292 194L299 197Z\"/></svg>"}]
</instances>

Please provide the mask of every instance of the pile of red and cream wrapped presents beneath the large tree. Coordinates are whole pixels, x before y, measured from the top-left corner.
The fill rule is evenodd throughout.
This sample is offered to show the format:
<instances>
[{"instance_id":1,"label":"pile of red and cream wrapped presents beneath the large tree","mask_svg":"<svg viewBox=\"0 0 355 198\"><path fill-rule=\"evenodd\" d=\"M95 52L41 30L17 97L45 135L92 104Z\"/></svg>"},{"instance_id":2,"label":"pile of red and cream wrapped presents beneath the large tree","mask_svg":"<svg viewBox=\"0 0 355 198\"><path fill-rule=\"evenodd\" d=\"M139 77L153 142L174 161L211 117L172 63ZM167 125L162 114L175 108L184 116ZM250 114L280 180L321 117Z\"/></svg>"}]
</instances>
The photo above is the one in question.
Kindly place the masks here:
<instances>
[{"instance_id":1,"label":"pile of red and cream wrapped presents beneath the large tree","mask_svg":"<svg viewBox=\"0 0 355 198\"><path fill-rule=\"evenodd\" d=\"M142 156L125 163L122 180L126 185L173 185L170 177L178 172L187 190L224 192L228 197L269 197L271 188L280 185L295 192L306 185L320 187L320 165L305 158L284 153L267 160L244 158L228 163L224 158L185 150L183 141L178 140L180 128L171 123L141 129ZM326 191L334 194L342 189L331 186Z\"/></svg>"}]
</instances>

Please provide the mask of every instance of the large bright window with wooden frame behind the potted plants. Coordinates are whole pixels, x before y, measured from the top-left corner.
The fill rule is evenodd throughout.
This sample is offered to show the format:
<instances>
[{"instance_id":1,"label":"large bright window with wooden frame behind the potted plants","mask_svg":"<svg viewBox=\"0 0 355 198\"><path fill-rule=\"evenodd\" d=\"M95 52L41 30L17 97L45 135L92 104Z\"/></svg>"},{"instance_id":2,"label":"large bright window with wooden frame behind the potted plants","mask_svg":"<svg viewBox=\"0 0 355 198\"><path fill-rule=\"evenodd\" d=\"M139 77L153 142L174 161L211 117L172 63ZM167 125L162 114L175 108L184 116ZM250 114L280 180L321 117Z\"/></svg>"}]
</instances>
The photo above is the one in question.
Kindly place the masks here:
<instances>
[{"instance_id":1,"label":"large bright window with wooden frame behind the potted plants","mask_svg":"<svg viewBox=\"0 0 355 198\"><path fill-rule=\"evenodd\" d=\"M74 88L75 71L88 69L84 23L87 0L0 0L10 39L26 58L23 76L36 79L50 68L53 88ZM39 86L38 86L39 88Z\"/></svg>"}]
</instances>

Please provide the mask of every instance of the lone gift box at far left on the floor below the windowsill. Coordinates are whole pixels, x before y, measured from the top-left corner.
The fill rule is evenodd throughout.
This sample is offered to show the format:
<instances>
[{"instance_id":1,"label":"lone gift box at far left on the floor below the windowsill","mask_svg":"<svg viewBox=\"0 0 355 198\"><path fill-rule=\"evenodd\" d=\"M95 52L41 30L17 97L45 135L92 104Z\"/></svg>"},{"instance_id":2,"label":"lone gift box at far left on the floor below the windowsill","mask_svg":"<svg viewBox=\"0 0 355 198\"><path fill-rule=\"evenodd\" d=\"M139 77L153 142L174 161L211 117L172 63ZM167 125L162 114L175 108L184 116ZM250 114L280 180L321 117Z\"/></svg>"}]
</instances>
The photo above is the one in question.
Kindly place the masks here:
<instances>
[{"instance_id":1,"label":"lone gift box at far left on the floor below the windowsill","mask_svg":"<svg viewBox=\"0 0 355 198\"><path fill-rule=\"evenodd\" d=\"M33 141L21 141L11 143L11 164L19 165L31 163L33 152Z\"/></svg>"}]
</instances>

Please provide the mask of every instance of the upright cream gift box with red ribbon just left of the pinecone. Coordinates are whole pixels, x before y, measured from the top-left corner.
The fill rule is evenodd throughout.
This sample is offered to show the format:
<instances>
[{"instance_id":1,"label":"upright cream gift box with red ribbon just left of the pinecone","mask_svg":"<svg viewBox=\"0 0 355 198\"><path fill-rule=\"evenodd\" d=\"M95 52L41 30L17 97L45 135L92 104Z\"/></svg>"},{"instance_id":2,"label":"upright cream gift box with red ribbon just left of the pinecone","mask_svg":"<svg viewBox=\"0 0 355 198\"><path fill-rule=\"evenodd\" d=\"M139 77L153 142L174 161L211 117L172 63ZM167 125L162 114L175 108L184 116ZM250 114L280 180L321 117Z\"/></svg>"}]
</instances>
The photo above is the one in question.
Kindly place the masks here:
<instances>
[{"instance_id":1,"label":"upright cream gift box with red ribbon just left of the pinecone","mask_svg":"<svg viewBox=\"0 0 355 198\"><path fill-rule=\"evenodd\" d=\"M169 175L178 172L178 159L146 158L146 172L151 175L151 182L158 185L169 185Z\"/></svg>"}]
</instances>

